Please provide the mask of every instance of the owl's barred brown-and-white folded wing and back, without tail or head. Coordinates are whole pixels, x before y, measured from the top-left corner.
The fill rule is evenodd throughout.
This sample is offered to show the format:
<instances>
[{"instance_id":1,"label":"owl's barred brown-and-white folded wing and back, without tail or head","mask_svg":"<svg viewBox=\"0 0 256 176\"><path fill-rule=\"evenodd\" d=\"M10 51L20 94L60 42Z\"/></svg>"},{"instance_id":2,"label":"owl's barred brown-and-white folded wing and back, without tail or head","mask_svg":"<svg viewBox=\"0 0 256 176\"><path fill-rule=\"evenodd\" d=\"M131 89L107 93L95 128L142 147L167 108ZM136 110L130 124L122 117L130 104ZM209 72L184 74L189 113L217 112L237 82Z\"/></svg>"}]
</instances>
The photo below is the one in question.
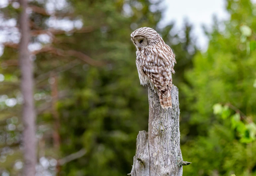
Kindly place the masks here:
<instances>
[{"instance_id":1,"label":"owl's barred brown-and-white folded wing and back, without tail or head","mask_svg":"<svg viewBox=\"0 0 256 176\"><path fill-rule=\"evenodd\" d=\"M175 73L173 67L176 63L172 49L166 44L154 45L143 54L144 57L141 59L143 72L159 92L168 98L171 95L172 73Z\"/></svg>"}]
</instances>

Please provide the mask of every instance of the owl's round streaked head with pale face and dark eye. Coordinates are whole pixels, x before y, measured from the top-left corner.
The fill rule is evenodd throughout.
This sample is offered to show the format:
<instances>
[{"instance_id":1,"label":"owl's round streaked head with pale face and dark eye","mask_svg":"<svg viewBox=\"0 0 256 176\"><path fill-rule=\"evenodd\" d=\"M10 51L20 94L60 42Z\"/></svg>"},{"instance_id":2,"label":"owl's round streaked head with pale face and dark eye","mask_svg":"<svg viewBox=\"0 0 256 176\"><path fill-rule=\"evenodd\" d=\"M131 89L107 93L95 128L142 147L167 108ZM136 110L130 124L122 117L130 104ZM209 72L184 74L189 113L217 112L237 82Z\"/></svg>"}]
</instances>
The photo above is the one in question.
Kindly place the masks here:
<instances>
[{"instance_id":1,"label":"owl's round streaked head with pale face and dark eye","mask_svg":"<svg viewBox=\"0 0 256 176\"><path fill-rule=\"evenodd\" d=\"M131 41L138 50L163 42L162 37L152 28L143 27L131 33Z\"/></svg>"}]
</instances>

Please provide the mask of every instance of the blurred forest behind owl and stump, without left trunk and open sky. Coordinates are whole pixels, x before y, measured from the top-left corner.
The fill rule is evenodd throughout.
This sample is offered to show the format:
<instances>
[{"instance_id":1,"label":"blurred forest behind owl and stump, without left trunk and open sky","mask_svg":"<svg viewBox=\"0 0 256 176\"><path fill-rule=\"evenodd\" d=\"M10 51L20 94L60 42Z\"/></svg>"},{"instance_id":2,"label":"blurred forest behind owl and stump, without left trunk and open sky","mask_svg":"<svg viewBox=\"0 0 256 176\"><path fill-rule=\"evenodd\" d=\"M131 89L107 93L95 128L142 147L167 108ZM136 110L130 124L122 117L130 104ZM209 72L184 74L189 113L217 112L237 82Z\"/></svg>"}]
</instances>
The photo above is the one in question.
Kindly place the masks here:
<instances>
[{"instance_id":1,"label":"blurred forest behind owl and stump, without left trunk and open sky","mask_svg":"<svg viewBox=\"0 0 256 176\"><path fill-rule=\"evenodd\" d=\"M157 24L164 9L146 0L29 0L34 61L37 176L130 173L138 131L148 128L130 33L156 29L176 54L183 175L256 175L256 5L226 0L229 20L204 27ZM21 175L23 96L18 62L20 4L0 10L0 174ZM104 173L104 174L103 174Z\"/></svg>"}]
</instances>

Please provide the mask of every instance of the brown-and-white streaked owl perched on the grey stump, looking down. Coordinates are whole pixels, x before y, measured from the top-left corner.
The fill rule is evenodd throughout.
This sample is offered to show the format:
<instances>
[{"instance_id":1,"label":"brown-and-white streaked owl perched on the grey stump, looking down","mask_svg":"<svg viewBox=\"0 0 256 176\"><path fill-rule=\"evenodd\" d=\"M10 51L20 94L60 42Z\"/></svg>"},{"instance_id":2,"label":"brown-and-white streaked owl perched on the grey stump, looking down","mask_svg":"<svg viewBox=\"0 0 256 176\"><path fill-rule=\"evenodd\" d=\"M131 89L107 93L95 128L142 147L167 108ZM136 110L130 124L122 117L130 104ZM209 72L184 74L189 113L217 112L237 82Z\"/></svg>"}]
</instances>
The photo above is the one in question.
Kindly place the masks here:
<instances>
[{"instance_id":1,"label":"brown-and-white streaked owl perched on the grey stump, looking down","mask_svg":"<svg viewBox=\"0 0 256 176\"><path fill-rule=\"evenodd\" d=\"M144 27L131 33L137 48L136 66L141 85L150 85L158 94L163 109L172 108L172 73L175 55L162 37L152 28Z\"/></svg>"}]
</instances>

